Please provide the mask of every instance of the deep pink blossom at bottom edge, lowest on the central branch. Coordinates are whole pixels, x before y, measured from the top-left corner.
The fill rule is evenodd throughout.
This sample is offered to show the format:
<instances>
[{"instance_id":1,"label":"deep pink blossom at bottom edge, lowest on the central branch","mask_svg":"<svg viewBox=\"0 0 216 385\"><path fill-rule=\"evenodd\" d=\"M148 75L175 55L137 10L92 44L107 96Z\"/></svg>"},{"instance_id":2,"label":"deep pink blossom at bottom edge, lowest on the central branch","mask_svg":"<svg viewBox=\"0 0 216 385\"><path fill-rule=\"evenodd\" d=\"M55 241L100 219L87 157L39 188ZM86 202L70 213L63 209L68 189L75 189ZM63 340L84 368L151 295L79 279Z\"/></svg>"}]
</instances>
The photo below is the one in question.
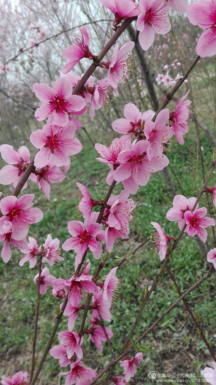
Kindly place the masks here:
<instances>
[{"instance_id":1,"label":"deep pink blossom at bottom edge, lowest on the central branch","mask_svg":"<svg viewBox=\"0 0 216 385\"><path fill-rule=\"evenodd\" d=\"M84 366L79 359L70 365L69 372L61 372L59 373L59 376L64 376L66 374L65 385L87 385L97 376L95 370Z\"/></svg>"}]
</instances>

